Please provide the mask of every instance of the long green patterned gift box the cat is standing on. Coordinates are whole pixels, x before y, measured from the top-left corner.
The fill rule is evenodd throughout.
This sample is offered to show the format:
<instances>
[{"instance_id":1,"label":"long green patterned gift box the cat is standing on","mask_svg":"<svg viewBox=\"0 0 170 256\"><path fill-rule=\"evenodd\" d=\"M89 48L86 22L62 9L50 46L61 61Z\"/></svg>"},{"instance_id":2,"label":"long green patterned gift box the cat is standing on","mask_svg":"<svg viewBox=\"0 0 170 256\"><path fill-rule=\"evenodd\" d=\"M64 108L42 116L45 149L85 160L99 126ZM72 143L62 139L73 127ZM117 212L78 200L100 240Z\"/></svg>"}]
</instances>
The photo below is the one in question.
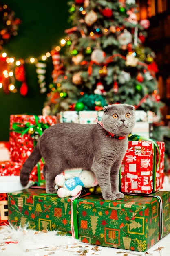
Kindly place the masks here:
<instances>
[{"instance_id":1,"label":"long green patterned gift box the cat is standing on","mask_svg":"<svg viewBox=\"0 0 170 256\"><path fill-rule=\"evenodd\" d=\"M33 188L8 196L12 225L69 234L74 227L75 237L85 243L145 252L170 231L170 192L166 191L130 194L115 201L91 194L71 202Z\"/></svg>"}]
</instances>

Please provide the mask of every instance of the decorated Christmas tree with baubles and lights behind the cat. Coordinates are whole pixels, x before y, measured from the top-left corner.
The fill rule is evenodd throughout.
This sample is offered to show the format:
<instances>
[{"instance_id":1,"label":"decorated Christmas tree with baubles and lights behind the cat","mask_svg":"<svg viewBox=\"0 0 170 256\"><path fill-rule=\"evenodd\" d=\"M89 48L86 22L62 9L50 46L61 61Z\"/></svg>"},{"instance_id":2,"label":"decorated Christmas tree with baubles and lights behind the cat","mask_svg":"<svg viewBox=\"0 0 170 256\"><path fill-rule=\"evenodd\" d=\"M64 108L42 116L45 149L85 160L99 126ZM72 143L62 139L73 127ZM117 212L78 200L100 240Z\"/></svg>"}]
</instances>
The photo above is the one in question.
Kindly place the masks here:
<instances>
[{"instance_id":1,"label":"decorated Christmas tree with baubles and lights behind the cat","mask_svg":"<svg viewBox=\"0 0 170 256\"><path fill-rule=\"evenodd\" d=\"M64 55L53 51L53 83L45 103L48 113L102 110L108 104L127 103L153 111L159 123L163 104L155 54L144 46L149 21L138 21L135 0L72 0L68 4L73 27L65 31Z\"/></svg>"}]
</instances>

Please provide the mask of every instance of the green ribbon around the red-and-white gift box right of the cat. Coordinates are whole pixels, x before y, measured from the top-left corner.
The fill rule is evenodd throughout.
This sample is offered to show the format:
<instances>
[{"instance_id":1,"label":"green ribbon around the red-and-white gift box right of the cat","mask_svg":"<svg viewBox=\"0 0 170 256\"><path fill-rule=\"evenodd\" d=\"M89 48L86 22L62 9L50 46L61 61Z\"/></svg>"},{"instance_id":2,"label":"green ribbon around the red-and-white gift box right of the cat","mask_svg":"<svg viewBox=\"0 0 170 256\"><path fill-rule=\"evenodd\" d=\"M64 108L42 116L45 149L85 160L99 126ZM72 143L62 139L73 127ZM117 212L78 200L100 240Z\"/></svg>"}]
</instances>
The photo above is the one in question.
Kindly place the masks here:
<instances>
[{"instance_id":1,"label":"green ribbon around the red-and-white gift box right of the cat","mask_svg":"<svg viewBox=\"0 0 170 256\"><path fill-rule=\"evenodd\" d=\"M155 186L156 186L156 171L157 168L159 167L160 164L160 151L159 151L159 147L156 143L156 141L154 139L150 139L144 136L140 136L140 135L136 135L136 134L132 134L130 135L130 137L128 137L129 141L150 141L153 143L153 192L155 191ZM156 150L158 152L159 155L159 159L158 159L158 163L156 163Z\"/></svg>"}]
</instances>

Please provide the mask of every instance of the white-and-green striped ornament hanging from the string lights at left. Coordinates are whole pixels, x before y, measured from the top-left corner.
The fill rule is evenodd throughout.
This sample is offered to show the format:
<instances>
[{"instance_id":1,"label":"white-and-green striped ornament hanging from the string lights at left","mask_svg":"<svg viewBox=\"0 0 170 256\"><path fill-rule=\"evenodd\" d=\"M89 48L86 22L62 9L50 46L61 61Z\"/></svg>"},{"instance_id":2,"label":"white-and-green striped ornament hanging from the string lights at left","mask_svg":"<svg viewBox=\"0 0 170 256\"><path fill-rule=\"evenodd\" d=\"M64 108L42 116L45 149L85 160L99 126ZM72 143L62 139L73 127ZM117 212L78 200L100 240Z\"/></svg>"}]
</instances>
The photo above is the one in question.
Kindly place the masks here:
<instances>
[{"instance_id":1,"label":"white-and-green striped ornament hanging from the string lights at left","mask_svg":"<svg viewBox=\"0 0 170 256\"><path fill-rule=\"evenodd\" d=\"M38 61L35 63L36 73L38 74L38 83L40 85L40 93L46 92L46 81L45 81L45 74L46 74L46 63L42 61Z\"/></svg>"}]
</instances>

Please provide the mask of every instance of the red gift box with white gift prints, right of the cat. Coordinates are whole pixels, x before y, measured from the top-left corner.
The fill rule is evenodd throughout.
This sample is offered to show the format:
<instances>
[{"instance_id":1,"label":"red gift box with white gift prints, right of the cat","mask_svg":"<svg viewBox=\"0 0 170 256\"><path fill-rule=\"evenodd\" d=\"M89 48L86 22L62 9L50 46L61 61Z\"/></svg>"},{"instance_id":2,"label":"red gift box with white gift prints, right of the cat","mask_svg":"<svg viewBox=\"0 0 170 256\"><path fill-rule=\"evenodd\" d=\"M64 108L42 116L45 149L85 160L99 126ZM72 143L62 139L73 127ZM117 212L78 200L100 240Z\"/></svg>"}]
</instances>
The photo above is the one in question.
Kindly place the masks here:
<instances>
[{"instance_id":1,"label":"red gift box with white gift prints, right of the cat","mask_svg":"<svg viewBox=\"0 0 170 256\"><path fill-rule=\"evenodd\" d=\"M162 189L165 144L148 140L128 142L120 168L123 193L150 194Z\"/></svg>"}]
</instances>

